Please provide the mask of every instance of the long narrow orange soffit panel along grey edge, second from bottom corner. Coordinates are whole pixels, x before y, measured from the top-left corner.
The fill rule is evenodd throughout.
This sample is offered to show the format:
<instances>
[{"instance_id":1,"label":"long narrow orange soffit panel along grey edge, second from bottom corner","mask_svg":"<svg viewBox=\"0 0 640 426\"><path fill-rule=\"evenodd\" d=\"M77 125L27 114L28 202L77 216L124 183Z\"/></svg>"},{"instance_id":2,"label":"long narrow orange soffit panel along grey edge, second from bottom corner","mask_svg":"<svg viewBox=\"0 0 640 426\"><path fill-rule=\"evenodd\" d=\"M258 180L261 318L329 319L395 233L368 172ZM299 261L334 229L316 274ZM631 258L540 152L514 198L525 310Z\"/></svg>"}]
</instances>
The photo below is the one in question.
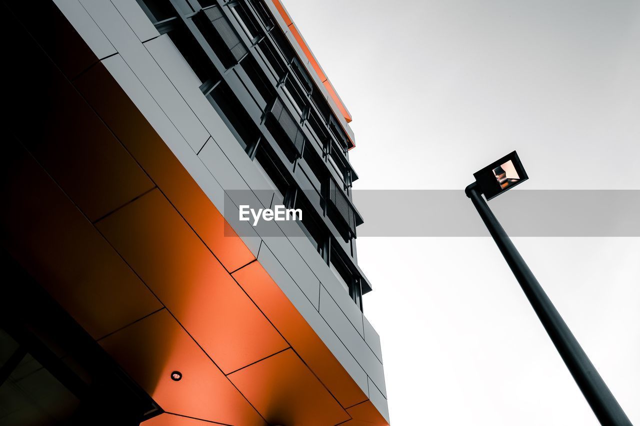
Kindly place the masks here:
<instances>
[{"instance_id":1,"label":"long narrow orange soffit panel along grey edge, second from bottom corner","mask_svg":"<svg viewBox=\"0 0 640 426\"><path fill-rule=\"evenodd\" d=\"M233 275L343 407L353 406L367 399L360 386L259 262L246 265Z\"/></svg>"}]
</instances>

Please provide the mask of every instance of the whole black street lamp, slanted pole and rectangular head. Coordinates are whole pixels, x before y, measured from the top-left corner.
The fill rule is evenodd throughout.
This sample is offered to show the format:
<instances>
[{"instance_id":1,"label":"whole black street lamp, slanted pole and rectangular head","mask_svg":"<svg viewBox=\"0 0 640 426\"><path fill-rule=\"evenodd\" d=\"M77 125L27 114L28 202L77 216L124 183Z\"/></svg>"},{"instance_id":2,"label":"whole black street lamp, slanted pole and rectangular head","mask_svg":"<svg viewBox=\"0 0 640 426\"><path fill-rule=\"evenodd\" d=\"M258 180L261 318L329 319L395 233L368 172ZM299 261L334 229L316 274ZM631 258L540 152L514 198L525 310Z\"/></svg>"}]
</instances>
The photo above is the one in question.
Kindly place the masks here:
<instances>
[{"instance_id":1,"label":"whole black street lamp, slanted pole and rectangular head","mask_svg":"<svg viewBox=\"0 0 640 426\"><path fill-rule=\"evenodd\" d=\"M476 210L493 237L493 241L500 249L500 253L507 261L516 280L520 283L529 303L547 330L551 341L556 345L564 364L573 375L573 379L591 406L596 418L602 425L632 426L627 414L607 388L602 377L593 367L571 330L566 326L547 294L540 287L540 283L482 198L482 194L484 194L487 201L491 200L529 178L522 167L518 154L515 151L511 152L511 154L474 173L474 177L476 182L468 185L465 194L471 198L472 203L476 206Z\"/></svg>"}]
</instances>

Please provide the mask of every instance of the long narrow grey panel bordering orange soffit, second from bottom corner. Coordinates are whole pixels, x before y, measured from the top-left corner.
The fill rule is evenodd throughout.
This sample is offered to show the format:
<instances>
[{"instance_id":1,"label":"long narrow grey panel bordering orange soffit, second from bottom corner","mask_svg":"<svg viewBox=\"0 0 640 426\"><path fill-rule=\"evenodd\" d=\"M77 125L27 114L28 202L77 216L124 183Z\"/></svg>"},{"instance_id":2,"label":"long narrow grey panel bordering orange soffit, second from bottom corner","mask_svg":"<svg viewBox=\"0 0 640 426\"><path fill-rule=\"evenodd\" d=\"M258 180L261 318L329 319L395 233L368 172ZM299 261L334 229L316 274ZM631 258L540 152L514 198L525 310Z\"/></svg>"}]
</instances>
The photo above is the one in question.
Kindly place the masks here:
<instances>
[{"instance_id":1,"label":"long narrow grey panel bordering orange soffit, second from bottom corner","mask_svg":"<svg viewBox=\"0 0 640 426\"><path fill-rule=\"evenodd\" d=\"M298 312L301 313L308 324L316 331L317 335L329 348L333 356L340 361L342 367L347 370L353 380L360 386L360 389L364 391L365 395L368 395L369 384L367 383L367 374L355 358L353 358L353 355L347 351L344 344L340 342L339 338L337 338L323 317L321 317L314 306L308 301L307 297L300 290L300 287L298 287L291 279L291 276L287 274L287 271L282 267L278 258L276 258L266 244L262 244L260 248L258 261L268 272L269 276L278 283L278 287L280 287L287 298L289 298L291 303L296 306Z\"/></svg>"}]
</instances>

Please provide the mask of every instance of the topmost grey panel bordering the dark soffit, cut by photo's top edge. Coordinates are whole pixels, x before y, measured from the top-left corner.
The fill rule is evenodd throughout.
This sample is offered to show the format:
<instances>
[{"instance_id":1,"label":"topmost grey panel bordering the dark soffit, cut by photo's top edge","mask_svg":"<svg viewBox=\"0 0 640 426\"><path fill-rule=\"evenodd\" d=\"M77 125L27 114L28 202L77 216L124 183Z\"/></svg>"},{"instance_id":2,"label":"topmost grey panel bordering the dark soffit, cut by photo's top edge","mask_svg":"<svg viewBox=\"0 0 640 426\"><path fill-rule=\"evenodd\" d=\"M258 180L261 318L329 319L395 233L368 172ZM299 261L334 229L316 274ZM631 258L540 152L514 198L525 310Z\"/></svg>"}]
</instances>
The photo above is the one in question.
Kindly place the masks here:
<instances>
[{"instance_id":1,"label":"topmost grey panel bordering the dark soffit, cut by photo's top edge","mask_svg":"<svg viewBox=\"0 0 640 426\"><path fill-rule=\"evenodd\" d=\"M115 47L102 33L79 0L54 0L54 3L99 59L116 53Z\"/></svg>"}]
</instances>

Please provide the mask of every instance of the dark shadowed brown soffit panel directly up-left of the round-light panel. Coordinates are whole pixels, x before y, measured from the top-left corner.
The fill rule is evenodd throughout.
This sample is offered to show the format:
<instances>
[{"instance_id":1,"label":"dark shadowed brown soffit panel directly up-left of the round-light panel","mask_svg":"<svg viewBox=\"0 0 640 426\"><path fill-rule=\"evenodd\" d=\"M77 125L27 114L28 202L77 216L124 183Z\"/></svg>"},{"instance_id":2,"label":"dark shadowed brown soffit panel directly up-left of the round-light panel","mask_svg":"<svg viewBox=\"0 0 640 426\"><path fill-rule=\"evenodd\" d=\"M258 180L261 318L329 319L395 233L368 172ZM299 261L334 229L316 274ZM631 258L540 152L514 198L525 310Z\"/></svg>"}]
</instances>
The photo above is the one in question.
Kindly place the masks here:
<instances>
[{"instance_id":1,"label":"dark shadowed brown soffit panel directly up-left of the round-light panel","mask_svg":"<svg viewBox=\"0 0 640 426\"><path fill-rule=\"evenodd\" d=\"M3 244L93 338L162 307L12 136L3 154Z\"/></svg>"}]
</instances>

